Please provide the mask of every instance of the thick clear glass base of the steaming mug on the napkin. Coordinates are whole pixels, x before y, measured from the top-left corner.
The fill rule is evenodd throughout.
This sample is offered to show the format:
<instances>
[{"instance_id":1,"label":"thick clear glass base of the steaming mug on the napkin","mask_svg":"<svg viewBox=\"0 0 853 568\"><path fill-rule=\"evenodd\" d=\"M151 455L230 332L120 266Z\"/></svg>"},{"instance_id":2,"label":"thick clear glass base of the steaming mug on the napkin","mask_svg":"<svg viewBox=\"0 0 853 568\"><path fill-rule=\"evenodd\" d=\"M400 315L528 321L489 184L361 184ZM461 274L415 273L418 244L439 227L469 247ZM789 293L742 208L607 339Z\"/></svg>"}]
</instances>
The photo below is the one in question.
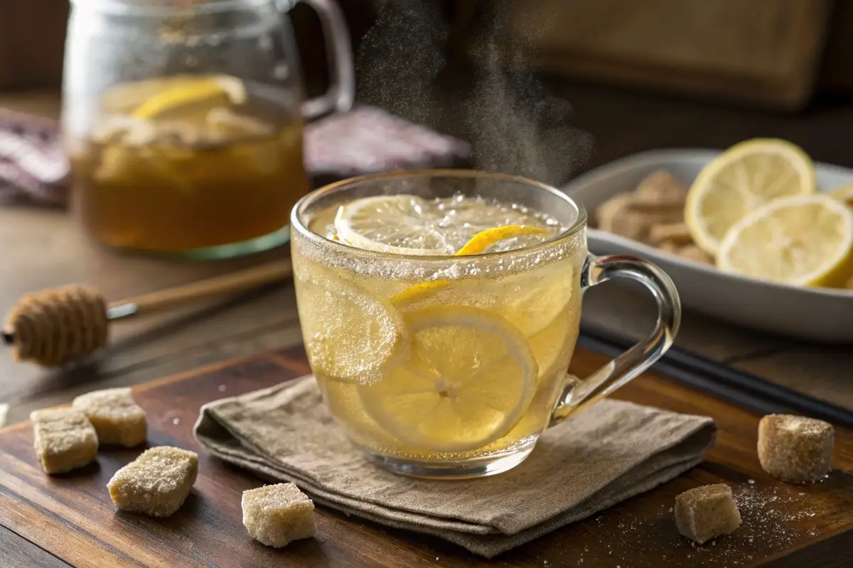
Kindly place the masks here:
<instances>
[{"instance_id":1,"label":"thick clear glass base of the steaming mug on the napkin","mask_svg":"<svg viewBox=\"0 0 853 568\"><path fill-rule=\"evenodd\" d=\"M441 462L380 456L364 448L361 450L368 462L399 475L423 479L472 479L504 473L524 462L533 451L537 439L538 436L531 436L511 449L490 456Z\"/></svg>"}]
</instances>

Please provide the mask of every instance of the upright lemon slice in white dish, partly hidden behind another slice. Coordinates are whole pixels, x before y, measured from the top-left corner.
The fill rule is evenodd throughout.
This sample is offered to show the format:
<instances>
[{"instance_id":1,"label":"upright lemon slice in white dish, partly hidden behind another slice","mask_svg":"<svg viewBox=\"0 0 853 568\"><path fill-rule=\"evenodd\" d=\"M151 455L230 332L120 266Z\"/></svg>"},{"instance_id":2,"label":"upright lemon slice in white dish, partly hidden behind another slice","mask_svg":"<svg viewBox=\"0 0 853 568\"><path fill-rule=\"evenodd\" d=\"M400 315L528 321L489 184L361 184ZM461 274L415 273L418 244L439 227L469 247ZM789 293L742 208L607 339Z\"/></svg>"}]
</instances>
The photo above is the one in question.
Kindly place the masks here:
<instances>
[{"instance_id":1,"label":"upright lemon slice in white dish, partly hidden behind another slice","mask_svg":"<svg viewBox=\"0 0 853 568\"><path fill-rule=\"evenodd\" d=\"M722 152L699 172L684 208L693 241L717 255L729 228L778 198L815 192L811 158L791 142L757 138Z\"/></svg>"}]
</instances>

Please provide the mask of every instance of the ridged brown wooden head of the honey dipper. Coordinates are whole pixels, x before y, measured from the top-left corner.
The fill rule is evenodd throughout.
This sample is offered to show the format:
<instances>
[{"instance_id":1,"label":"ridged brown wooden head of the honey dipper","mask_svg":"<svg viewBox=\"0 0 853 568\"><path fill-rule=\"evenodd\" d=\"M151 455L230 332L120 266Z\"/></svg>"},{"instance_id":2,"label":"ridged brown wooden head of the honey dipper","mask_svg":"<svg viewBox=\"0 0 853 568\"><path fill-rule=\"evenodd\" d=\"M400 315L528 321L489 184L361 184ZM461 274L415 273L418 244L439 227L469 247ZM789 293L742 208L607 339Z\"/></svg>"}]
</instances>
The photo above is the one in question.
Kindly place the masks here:
<instances>
[{"instance_id":1,"label":"ridged brown wooden head of the honey dipper","mask_svg":"<svg viewBox=\"0 0 853 568\"><path fill-rule=\"evenodd\" d=\"M69 285L24 295L9 311L3 339L15 359L58 367L104 347L108 326L103 296Z\"/></svg>"}]
</instances>

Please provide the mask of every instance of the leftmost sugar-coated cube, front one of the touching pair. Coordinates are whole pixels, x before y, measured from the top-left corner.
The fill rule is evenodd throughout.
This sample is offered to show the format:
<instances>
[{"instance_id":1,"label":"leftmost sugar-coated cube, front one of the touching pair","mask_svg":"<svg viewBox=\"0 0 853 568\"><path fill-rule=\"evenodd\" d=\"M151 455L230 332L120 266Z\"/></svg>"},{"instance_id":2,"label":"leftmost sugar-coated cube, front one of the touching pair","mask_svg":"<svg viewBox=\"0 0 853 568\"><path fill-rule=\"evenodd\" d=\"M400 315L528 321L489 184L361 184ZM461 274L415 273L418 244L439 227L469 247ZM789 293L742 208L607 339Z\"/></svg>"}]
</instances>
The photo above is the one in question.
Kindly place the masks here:
<instances>
[{"instance_id":1,"label":"leftmost sugar-coated cube, front one of the touching pair","mask_svg":"<svg viewBox=\"0 0 853 568\"><path fill-rule=\"evenodd\" d=\"M44 473L66 473L95 460L98 436L89 418L73 409L34 410L32 445Z\"/></svg>"}]
</instances>

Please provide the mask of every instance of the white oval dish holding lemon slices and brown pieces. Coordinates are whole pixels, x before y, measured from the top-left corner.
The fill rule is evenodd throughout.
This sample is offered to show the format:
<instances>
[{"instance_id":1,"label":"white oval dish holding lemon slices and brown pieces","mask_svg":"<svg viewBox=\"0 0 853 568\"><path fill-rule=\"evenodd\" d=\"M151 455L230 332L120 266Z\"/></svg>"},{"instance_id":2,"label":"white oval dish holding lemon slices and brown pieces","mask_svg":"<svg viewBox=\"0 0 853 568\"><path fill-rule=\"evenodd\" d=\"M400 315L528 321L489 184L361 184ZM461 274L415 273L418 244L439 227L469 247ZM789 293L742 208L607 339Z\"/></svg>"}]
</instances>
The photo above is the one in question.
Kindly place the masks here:
<instances>
[{"instance_id":1,"label":"white oval dish holding lemon slices and brown pieces","mask_svg":"<svg viewBox=\"0 0 853 568\"><path fill-rule=\"evenodd\" d=\"M632 191L647 175L664 169L690 186L717 150L653 150L621 158L579 175L563 186L593 217L595 208L617 193ZM821 191L853 183L853 169L815 163ZM853 343L853 290L798 288L723 273L715 267L589 229L589 250L596 255L641 256L675 281L684 307L755 330L822 343Z\"/></svg>"}]
</instances>

